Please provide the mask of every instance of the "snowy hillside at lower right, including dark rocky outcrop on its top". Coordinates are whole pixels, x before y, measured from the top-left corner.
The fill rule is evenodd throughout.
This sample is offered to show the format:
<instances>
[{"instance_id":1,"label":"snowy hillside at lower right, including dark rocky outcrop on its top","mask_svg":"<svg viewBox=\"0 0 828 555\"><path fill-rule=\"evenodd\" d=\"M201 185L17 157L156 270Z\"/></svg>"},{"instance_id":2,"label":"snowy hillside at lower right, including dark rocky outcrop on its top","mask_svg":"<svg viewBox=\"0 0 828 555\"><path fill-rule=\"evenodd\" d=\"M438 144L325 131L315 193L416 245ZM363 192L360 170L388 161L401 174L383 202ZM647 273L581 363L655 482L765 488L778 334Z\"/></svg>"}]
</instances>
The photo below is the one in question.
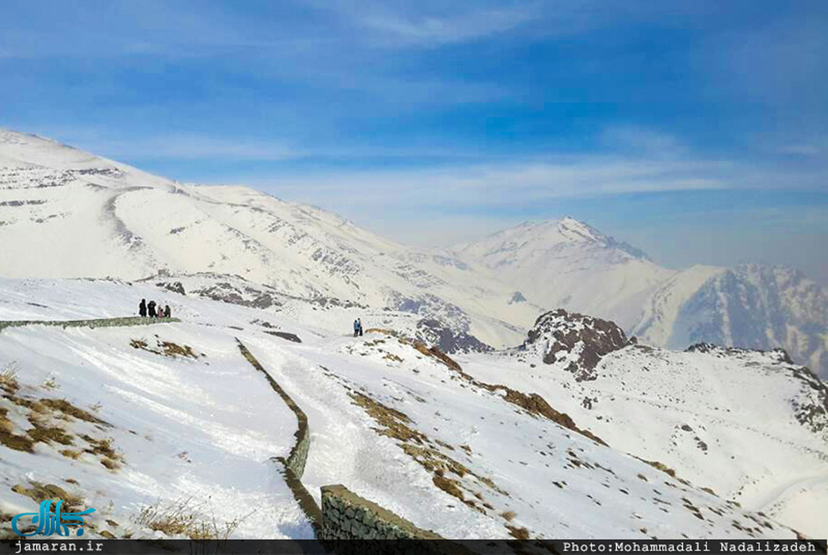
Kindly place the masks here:
<instances>
[{"instance_id":1,"label":"snowy hillside at lower right, including dark rocky outcrop on its top","mask_svg":"<svg viewBox=\"0 0 828 555\"><path fill-rule=\"evenodd\" d=\"M828 530L828 386L782 350L662 350L612 322L554 311L522 347L460 360L475 378L554 399L610 446L744 509Z\"/></svg>"}]
</instances>

